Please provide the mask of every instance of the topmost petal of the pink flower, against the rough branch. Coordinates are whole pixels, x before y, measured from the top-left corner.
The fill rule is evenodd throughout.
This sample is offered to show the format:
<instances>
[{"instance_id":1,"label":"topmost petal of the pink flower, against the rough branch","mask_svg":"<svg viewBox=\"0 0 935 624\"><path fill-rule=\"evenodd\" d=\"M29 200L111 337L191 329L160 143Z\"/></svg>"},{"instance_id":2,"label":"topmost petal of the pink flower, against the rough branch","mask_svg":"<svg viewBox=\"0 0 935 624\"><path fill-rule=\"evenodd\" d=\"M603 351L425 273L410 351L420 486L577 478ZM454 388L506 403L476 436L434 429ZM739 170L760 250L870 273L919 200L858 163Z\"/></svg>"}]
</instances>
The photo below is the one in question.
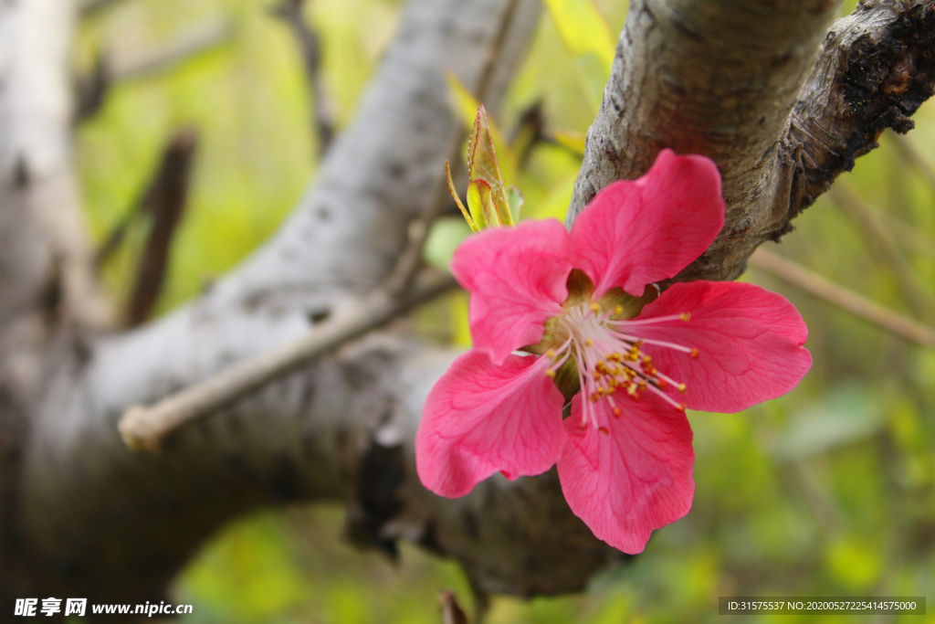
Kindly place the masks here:
<instances>
[{"instance_id":1,"label":"topmost petal of the pink flower, against the rough branch","mask_svg":"<svg viewBox=\"0 0 935 624\"><path fill-rule=\"evenodd\" d=\"M640 297L673 277L724 227L721 175L704 156L663 150L646 175L607 186L571 228L572 263L595 283L595 297L622 287Z\"/></svg>"}]
</instances>

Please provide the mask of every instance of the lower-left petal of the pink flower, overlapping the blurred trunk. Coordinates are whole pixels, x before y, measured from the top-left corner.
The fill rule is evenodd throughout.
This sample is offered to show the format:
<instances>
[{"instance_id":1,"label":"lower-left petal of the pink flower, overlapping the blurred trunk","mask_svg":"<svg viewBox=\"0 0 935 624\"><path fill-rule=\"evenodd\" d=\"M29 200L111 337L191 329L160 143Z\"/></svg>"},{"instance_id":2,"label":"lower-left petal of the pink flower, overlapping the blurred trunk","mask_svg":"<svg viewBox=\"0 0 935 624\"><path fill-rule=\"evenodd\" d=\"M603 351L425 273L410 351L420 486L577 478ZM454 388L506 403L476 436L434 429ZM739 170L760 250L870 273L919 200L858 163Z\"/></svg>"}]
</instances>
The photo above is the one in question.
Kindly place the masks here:
<instances>
[{"instance_id":1,"label":"lower-left petal of the pink flower, overlapping the blurred trunk","mask_svg":"<svg viewBox=\"0 0 935 624\"><path fill-rule=\"evenodd\" d=\"M496 366L476 349L454 360L428 393L416 433L422 484L454 498L495 472L515 479L554 466L564 399L545 374L550 363L508 356Z\"/></svg>"}]
</instances>

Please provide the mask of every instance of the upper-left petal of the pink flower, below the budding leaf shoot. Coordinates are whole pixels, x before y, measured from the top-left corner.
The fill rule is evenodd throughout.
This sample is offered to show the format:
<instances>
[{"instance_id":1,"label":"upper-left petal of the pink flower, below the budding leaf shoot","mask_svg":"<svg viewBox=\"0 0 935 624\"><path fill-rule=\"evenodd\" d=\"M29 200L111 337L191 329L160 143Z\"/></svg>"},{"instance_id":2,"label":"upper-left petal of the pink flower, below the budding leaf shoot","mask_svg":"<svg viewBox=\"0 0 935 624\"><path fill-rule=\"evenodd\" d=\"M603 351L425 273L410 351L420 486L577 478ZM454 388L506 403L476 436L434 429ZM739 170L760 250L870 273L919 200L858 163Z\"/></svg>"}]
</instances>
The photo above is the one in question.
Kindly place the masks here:
<instances>
[{"instance_id":1,"label":"upper-left petal of the pink flower, below the budding leaf shoot","mask_svg":"<svg viewBox=\"0 0 935 624\"><path fill-rule=\"evenodd\" d=\"M454 252L452 272L470 293L474 348L496 364L542 340L543 323L568 297L568 231L555 219L494 227Z\"/></svg>"}]
</instances>

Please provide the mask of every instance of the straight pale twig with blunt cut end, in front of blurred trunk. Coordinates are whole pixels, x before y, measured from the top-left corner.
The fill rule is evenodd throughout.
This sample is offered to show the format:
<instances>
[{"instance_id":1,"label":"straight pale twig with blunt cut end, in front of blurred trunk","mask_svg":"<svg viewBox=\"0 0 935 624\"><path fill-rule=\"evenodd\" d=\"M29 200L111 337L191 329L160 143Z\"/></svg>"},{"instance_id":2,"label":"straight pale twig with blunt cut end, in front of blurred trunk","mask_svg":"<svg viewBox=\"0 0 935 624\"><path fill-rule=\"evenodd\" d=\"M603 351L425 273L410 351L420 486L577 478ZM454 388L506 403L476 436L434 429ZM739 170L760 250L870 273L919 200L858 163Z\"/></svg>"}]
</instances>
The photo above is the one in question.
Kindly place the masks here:
<instances>
[{"instance_id":1,"label":"straight pale twig with blunt cut end, in front of blurred trunk","mask_svg":"<svg viewBox=\"0 0 935 624\"><path fill-rule=\"evenodd\" d=\"M393 297L381 288L367 297L349 301L297 341L237 363L149 407L131 406L118 424L123 441L134 450L156 451L173 429L229 405L456 285L450 275L436 273L417 283L404 296Z\"/></svg>"}]
</instances>

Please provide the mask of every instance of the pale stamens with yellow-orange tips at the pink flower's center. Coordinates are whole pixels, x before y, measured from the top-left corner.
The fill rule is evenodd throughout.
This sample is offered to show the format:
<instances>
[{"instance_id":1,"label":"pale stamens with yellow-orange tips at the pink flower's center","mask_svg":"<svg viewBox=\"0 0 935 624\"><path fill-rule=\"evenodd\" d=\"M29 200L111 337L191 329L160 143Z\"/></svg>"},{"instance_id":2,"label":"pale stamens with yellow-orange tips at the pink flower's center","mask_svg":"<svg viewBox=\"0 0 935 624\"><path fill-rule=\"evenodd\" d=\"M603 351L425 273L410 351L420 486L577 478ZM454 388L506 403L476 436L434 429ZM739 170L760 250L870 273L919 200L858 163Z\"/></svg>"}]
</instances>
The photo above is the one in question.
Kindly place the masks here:
<instances>
[{"instance_id":1,"label":"pale stamens with yellow-orange tips at the pink flower's center","mask_svg":"<svg viewBox=\"0 0 935 624\"><path fill-rule=\"evenodd\" d=\"M599 303L579 301L554 319L552 347L544 354L552 359L552 365L545 374L554 379L556 371L568 360L573 362L585 399L582 428L588 422L598 428L595 406L601 400L610 403L611 414L618 418L623 414L623 401L639 400L645 392L653 392L679 411L685 409L683 402L665 392L674 388L684 393L685 385L656 369L652 356L642 349L652 344L692 357L698 357L698 349L640 338L640 328L673 320L688 321L690 314L631 320L620 318L624 312L619 304L604 309ZM599 430L607 432L604 428Z\"/></svg>"}]
</instances>

